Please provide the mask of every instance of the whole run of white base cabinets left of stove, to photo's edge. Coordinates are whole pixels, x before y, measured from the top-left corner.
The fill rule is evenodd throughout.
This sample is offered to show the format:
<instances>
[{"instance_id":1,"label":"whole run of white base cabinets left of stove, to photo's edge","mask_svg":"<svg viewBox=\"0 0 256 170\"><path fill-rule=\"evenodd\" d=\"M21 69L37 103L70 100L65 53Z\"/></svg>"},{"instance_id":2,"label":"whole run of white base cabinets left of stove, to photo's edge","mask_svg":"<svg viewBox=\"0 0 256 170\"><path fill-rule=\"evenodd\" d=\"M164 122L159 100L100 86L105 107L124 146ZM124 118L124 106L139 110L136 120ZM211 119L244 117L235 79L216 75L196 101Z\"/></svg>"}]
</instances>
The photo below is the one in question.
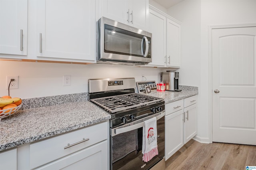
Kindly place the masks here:
<instances>
[{"instance_id":1,"label":"whole run of white base cabinets left of stove, to photo's edge","mask_svg":"<svg viewBox=\"0 0 256 170\"><path fill-rule=\"evenodd\" d=\"M108 130L103 122L1 151L0 170L108 170Z\"/></svg>"}]
</instances>

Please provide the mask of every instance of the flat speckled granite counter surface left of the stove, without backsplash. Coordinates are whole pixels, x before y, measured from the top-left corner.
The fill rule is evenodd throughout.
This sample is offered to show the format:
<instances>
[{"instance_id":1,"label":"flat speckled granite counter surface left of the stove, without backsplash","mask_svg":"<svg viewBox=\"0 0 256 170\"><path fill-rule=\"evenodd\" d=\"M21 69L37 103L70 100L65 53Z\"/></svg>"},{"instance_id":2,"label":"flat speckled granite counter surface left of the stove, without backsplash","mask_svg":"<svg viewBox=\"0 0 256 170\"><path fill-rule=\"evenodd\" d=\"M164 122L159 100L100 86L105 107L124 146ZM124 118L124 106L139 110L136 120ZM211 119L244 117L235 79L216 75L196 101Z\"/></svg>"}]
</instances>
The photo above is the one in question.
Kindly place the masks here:
<instances>
[{"instance_id":1,"label":"flat speckled granite counter surface left of the stove, without backsplash","mask_svg":"<svg viewBox=\"0 0 256 170\"><path fill-rule=\"evenodd\" d=\"M0 151L110 118L110 114L89 101L20 110L0 121Z\"/></svg>"}]
</instances>

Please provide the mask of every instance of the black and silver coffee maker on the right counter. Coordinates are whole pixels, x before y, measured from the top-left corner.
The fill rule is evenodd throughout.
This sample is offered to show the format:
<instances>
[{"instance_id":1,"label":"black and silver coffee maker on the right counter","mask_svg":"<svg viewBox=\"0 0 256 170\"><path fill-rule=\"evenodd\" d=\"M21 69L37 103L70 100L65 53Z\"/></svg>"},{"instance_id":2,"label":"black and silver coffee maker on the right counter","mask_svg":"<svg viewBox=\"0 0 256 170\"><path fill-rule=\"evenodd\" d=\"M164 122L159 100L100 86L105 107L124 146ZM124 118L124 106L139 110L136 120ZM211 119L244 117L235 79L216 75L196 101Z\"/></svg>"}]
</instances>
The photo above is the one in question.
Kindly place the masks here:
<instances>
[{"instance_id":1,"label":"black and silver coffee maker on the right counter","mask_svg":"<svg viewBox=\"0 0 256 170\"><path fill-rule=\"evenodd\" d=\"M177 71L162 72L162 82L165 84L165 90L181 91L179 89L179 72Z\"/></svg>"}]
</instances>

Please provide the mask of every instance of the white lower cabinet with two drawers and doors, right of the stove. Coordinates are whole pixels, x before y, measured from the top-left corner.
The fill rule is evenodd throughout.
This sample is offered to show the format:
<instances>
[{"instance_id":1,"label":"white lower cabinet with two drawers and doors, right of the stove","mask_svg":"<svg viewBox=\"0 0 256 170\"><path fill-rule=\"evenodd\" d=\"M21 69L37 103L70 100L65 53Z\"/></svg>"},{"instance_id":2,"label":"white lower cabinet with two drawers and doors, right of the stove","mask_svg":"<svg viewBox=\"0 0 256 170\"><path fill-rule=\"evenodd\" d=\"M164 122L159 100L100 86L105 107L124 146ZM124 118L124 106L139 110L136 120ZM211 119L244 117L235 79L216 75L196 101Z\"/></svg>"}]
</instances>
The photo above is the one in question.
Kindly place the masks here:
<instances>
[{"instance_id":1,"label":"white lower cabinet with two drawers and doors, right of the stove","mask_svg":"<svg viewBox=\"0 0 256 170\"><path fill-rule=\"evenodd\" d=\"M165 160L197 134L197 95L165 105Z\"/></svg>"}]
</instances>

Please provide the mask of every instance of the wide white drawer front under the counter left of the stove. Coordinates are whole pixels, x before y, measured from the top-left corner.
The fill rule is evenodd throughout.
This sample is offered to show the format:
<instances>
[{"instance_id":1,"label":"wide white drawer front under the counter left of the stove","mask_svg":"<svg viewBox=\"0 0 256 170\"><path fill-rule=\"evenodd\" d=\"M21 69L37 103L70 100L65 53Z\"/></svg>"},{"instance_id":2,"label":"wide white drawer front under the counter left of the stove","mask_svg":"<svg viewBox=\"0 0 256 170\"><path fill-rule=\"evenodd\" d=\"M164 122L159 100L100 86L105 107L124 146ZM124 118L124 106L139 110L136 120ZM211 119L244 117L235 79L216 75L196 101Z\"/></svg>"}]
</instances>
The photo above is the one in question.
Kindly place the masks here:
<instances>
[{"instance_id":1,"label":"wide white drawer front under the counter left of the stove","mask_svg":"<svg viewBox=\"0 0 256 170\"><path fill-rule=\"evenodd\" d=\"M104 122L30 144L30 168L36 168L106 140L107 135L108 123ZM76 145L64 149L68 144Z\"/></svg>"}]
</instances>

